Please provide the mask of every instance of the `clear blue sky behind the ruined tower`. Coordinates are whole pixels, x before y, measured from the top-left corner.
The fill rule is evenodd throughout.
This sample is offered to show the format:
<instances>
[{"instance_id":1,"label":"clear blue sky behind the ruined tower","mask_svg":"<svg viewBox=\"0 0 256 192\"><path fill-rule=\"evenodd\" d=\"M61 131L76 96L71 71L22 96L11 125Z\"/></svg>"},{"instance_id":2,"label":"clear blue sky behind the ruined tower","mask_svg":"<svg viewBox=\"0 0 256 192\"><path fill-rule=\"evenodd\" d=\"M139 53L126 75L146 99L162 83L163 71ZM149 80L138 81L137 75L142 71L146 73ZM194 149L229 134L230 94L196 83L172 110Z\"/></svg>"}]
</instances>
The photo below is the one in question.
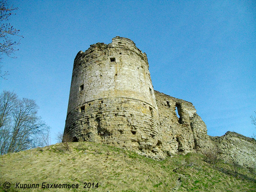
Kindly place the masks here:
<instances>
[{"instance_id":1,"label":"clear blue sky behind the ruined tower","mask_svg":"<svg viewBox=\"0 0 256 192\"><path fill-rule=\"evenodd\" d=\"M10 22L24 36L4 57L0 91L36 100L63 132L73 62L90 44L115 36L146 52L154 89L190 101L208 134L256 132L255 1L15 1Z\"/></svg>"}]
</instances>

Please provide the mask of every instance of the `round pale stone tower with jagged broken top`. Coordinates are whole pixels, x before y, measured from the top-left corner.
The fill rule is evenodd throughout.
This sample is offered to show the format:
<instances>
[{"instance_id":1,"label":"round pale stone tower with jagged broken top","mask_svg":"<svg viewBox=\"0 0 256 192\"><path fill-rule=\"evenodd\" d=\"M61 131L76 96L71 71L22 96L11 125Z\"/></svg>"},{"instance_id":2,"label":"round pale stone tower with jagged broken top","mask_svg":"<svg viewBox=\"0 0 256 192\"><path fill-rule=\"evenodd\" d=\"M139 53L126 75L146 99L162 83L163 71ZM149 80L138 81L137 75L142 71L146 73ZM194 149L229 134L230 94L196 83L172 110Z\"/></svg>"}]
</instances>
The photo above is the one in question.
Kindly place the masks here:
<instances>
[{"instance_id":1,"label":"round pale stone tower with jagged broken top","mask_svg":"<svg viewBox=\"0 0 256 192\"><path fill-rule=\"evenodd\" d=\"M64 134L156 156L158 128L146 53L119 36L77 53Z\"/></svg>"}]
</instances>

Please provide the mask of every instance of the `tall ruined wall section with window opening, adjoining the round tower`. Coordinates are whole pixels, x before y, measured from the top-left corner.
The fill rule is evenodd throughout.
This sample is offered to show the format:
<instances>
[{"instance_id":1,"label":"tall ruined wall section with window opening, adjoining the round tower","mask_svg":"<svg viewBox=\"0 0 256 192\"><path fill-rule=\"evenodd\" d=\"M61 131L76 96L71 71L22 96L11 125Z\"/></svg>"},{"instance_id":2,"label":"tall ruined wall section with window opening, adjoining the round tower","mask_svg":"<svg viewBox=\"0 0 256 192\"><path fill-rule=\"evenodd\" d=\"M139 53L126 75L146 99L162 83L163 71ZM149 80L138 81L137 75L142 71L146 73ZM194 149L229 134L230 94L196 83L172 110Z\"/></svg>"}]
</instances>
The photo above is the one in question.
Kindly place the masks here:
<instances>
[{"instance_id":1,"label":"tall ruined wall section with window opening, adjoining the round tower","mask_svg":"<svg viewBox=\"0 0 256 192\"><path fill-rule=\"evenodd\" d=\"M206 125L196 114L192 103L158 91L155 91L155 95L160 115L163 151L167 154L198 152L212 145Z\"/></svg>"}]
</instances>

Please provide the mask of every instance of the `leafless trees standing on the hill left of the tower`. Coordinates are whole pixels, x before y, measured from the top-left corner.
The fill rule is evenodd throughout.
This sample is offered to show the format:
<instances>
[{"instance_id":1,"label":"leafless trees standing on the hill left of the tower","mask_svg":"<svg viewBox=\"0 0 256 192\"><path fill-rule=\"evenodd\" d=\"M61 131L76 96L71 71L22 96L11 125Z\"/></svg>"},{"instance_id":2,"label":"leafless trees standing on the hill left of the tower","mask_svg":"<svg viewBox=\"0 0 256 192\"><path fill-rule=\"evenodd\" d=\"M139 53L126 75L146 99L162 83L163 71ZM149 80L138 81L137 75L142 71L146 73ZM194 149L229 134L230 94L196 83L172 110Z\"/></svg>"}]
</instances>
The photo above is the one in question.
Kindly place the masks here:
<instances>
[{"instance_id":1,"label":"leafless trees standing on the hill left of the tower","mask_svg":"<svg viewBox=\"0 0 256 192\"><path fill-rule=\"evenodd\" d=\"M17 98L13 92L0 95L0 152L13 153L42 146L49 127L37 116L34 100Z\"/></svg>"}]
</instances>

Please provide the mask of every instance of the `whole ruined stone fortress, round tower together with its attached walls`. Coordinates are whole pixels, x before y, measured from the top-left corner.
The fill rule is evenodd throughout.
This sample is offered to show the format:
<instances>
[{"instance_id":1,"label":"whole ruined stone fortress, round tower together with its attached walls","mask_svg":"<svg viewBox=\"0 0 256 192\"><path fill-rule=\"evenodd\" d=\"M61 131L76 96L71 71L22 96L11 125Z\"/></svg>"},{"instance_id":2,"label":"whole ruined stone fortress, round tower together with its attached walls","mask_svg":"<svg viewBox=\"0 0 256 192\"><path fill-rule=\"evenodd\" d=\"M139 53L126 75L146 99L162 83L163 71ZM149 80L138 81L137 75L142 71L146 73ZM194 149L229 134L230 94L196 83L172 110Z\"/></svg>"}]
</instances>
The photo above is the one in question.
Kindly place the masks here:
<instances>
[{"instance_id":1,"label":"whole ruined stone fortress, round tower together with its attached walls","mask_svg":"<svg viewBox=\"0 0 256 192\"><path fill-rule=\"evenodd\" d=\"M237 154L246 156L242 165L256 161L255 140L234 133L210 137L192 103L154 91L146 53L118 36L77 53L64 134L160 160L218 145L227 161Z\"/></svg>"}]
</instances>

